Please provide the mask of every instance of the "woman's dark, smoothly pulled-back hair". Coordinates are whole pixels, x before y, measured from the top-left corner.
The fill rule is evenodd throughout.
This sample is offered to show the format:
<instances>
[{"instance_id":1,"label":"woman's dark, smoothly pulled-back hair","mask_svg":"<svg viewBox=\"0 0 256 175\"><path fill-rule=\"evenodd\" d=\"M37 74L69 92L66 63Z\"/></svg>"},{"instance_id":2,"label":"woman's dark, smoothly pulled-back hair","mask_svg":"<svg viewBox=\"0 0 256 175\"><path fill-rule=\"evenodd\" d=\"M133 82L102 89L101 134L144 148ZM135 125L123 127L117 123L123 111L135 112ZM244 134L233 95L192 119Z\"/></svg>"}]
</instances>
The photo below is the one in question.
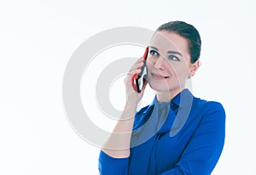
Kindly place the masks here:
<instances>
[{"instance_id":1,"label":"woman's dark, smoothly pulled-back hair","mask_svg":"<svg viewBox=\"0 0 256 175\"><path fill-rule=\"evenodd\" d=\"M156 31L172 31L184 37L189 42L190 62L195 63L199 59L201 53L201 37L193 25L177 20L160 25Z\"/></svg>"}]
</instances>

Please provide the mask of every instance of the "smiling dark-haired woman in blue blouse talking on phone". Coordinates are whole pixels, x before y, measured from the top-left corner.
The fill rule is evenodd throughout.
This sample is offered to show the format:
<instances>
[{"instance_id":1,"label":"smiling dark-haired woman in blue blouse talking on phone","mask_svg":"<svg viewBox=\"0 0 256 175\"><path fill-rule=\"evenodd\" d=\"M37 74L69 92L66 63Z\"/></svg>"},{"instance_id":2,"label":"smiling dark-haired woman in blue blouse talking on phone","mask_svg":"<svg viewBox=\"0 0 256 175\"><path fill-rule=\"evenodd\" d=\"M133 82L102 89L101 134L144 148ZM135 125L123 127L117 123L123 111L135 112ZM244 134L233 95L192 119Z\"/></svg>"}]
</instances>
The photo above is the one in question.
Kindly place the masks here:
<instances>
[{"instance_id":1,"label":"smiling dark-haired woman in blue blouse talking on phone","mask_svg":"<svg viewBox=\"0 0 256 175\"><path fill-rule=\"evenodd\" d=\"M102 175L211 174L224 146L225 113L218 102L195 98L185 88L199 68L200 53L193 25L160 25L146 61L154 101L136 112L146 87L141 93L132 87L143 66L138 59L125 78L125 110L99 157Z\"/></svg>"}]
</instances>

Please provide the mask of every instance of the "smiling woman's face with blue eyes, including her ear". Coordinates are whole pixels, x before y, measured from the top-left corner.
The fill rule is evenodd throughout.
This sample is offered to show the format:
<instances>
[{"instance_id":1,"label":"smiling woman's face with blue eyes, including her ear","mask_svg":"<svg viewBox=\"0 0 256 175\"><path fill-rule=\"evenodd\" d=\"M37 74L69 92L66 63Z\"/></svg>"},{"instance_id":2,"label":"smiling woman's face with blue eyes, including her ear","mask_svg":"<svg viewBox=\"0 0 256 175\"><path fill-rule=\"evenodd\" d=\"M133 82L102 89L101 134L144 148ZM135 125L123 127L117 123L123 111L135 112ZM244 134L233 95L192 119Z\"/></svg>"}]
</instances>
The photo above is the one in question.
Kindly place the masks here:
<instances>
[{"instance_id":1,"label":"smiling woman's face with blue eyes, including her ear","mask_svg":"<svg viewBox=\"0 0 256 175\"><path fill-rule=\"evenodd\" d=\"M158 92L182 90L199 65L190 63L189 42L173 32L157 31L148 52L148 83Z\"/></svg>"}]
</instances>

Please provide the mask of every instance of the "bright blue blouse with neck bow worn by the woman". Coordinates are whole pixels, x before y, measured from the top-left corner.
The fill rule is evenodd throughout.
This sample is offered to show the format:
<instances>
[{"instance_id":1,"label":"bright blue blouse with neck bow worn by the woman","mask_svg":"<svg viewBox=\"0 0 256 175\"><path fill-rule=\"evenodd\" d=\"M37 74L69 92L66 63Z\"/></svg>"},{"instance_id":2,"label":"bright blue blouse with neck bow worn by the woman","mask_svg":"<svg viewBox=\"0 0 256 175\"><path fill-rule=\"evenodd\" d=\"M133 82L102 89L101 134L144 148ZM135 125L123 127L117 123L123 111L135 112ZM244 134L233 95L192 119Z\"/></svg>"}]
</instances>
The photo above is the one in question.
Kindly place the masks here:
<instances>
[{"instance_id":1,"label":"bright blue blouse with neck bow worn by the woman","mask_svg":"<svg viewBox=\"0 0 256 175\"><path fill-rule=\"evenodd\" d=\"M195 98L188 89L169 103L139 110L131 135L131 154L99 156L102 175L211 174L224 147L222 104Z\"/></svg>"}]
</instances>

